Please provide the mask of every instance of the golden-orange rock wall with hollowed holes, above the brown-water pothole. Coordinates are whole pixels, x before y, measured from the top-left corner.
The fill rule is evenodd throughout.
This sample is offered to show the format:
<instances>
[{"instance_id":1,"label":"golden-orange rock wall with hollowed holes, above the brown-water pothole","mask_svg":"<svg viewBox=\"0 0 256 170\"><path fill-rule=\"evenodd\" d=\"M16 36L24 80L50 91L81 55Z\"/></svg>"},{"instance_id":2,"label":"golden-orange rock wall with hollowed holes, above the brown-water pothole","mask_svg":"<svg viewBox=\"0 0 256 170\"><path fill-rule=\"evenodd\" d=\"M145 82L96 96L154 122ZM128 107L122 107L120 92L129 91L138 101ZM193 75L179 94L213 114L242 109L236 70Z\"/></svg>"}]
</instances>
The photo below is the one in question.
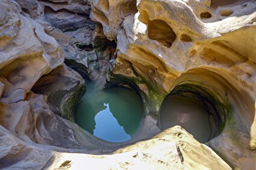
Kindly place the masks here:
<instances>
[{"instance_id":1,"label":"golden-orange rock wall with hollowed holes, above the brown-water pothole","mask_svg":"<svg viewBox=\"0 0 256 170\"><path fill-rule=\"evenodd\" d=\"M209 86L233 109L224 102L229 108L225 127L207 144L233 167L254 169L255 1L142 0L137 8L117 31L113 73L133 79L138 87L147 85L144 101L158 103L148 106L155 117L163 100L155 92L166 95L187 82ZM147 96L154 100L148 102Z\"/></svg>"}]
</instances>

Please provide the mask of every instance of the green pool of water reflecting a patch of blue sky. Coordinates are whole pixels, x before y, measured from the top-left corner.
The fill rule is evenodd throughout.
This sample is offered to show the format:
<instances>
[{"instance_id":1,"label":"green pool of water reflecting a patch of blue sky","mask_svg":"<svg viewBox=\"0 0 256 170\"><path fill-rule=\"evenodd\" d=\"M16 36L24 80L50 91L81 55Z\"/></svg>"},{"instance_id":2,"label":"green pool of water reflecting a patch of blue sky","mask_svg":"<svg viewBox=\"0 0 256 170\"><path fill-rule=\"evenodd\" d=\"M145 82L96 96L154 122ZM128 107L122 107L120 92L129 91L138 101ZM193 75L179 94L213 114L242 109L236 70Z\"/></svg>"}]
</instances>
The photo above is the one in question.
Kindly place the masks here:
<instances>
[{"instance_id":1,"label":"green pool of water reflecting a patch of blue sky","mask_svg":"<svg viewBox=\"0 0 256 170\"><path fill-rule=\"evenodd\" d=\"M76 107L75 121L108 142L126 142L136 136L143 115L140 97L128 88L101 90L87 80L86 94Z\"/></svg>"}]
</instances>

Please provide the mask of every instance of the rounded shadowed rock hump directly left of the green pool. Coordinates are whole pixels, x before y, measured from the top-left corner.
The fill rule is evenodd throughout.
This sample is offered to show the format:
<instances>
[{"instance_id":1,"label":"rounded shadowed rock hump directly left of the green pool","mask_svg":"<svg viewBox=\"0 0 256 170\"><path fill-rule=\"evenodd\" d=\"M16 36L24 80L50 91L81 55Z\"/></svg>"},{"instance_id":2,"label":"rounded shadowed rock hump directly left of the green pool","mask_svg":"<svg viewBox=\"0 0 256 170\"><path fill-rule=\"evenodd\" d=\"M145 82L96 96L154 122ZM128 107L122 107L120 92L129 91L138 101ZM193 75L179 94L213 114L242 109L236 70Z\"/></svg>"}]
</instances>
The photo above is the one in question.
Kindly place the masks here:
<instances>
[{"instance_id":1,"label":"rounded shadowed rock hump directly left of the green pool","mask_svg":"<svg viewBox=\"0 0 256 170\"><path fill-rule=\"evenodd\" d=\"M51 111L55 114L74 121L74 109L83 97L86 85L80 74L64 64L42 76L32 91L46 95Z\"/></svg>"}]
</instances>

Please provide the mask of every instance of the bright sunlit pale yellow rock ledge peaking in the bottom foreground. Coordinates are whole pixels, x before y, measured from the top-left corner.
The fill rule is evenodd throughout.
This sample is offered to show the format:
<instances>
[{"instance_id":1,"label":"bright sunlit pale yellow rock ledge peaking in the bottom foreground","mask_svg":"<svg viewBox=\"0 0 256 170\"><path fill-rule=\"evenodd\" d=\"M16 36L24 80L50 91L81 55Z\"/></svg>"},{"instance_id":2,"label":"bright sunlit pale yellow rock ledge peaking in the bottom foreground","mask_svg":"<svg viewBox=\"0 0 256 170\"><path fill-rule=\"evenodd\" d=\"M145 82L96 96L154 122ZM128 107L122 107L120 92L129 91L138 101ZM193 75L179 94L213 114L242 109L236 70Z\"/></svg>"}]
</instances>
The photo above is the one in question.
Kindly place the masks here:
<instances>
[{"instance_id":1,"label":"bright sunlit pale yellow rock ledge peaking in the bottom foreground","mask_svg":"<svg viewBox=\"0 0 256 170\"><path fill-rule=\"evenodd\" d=\"M179 126L110 155L54 153L49 169L231 169L216 153Z\"/></svg>"}]
</instances>

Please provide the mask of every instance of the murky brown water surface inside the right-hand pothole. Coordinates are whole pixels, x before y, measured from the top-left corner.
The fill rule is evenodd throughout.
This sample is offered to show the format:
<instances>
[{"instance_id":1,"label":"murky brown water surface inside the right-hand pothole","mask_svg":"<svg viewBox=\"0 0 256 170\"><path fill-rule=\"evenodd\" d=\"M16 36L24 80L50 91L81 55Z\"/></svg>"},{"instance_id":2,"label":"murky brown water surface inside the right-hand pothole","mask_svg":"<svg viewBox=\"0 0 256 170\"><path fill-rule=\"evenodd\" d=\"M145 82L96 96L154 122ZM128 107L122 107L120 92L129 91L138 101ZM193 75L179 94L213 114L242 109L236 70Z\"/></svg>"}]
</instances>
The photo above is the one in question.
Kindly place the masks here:
<instances>
[{"instance_id":1,"label":"murky brown water surface inside the right-hand pothole","mask_svg":"<svg viewBox=\"0 0 256 170\"><path fill-rule=\"evenodd\" d=\"M179 125L191 133L199 142L207 142L211 135L207 110L201 103L190 98L169 97L161 105L161 125L163 129Z\"/></svg>"}]
</instances>

